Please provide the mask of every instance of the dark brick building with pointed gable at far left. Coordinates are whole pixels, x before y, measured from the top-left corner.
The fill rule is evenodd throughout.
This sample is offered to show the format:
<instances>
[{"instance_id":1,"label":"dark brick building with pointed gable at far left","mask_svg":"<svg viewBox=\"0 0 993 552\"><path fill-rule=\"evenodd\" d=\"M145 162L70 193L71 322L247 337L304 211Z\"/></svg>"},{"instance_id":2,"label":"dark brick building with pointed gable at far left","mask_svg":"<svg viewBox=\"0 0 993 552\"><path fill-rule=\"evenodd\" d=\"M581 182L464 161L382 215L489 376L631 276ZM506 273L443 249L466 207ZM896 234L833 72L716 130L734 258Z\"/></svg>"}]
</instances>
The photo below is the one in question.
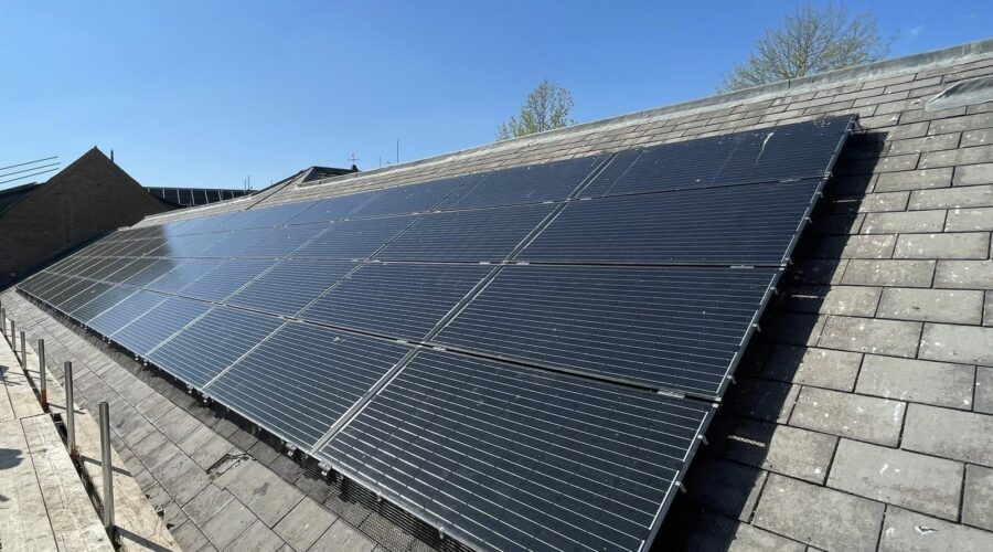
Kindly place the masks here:
<instances>
[{"instance_id":1,"label":"dark brick building with pointed gable at far left","mask_svg":"<svg viewBox=\"0 0 993 552\"><path fill-rule=\"evenodd\" d=\"M0 286L107 231L174 208L93 148L43 184L0 191Z\"/></svg>"}]
</instances>

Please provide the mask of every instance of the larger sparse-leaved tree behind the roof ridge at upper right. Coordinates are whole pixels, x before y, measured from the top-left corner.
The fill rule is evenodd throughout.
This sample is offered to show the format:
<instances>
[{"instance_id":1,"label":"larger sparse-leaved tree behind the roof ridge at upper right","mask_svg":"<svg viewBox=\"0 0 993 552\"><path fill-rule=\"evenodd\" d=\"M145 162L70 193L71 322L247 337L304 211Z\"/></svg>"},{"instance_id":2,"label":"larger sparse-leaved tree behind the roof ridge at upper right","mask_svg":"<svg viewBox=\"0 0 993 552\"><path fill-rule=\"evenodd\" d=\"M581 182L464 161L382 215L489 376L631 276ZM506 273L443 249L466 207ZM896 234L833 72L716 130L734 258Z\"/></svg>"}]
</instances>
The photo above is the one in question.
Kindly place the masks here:
<instances>
[{"instance_id":1,"label":"larger sparse-leaved tree behind the roof ridge at upper right","mask_svg":"<svg viewBox=\"0 0 993 552\"><path fill-rule=\"evenodd\" d=\"M832 2L822 10L807 4L788 14L780 28L767 30L718 92L874 62L887 53L889 41L879 36L871 11L850 17L843 3Z\"/></svg>"}]
</instances>

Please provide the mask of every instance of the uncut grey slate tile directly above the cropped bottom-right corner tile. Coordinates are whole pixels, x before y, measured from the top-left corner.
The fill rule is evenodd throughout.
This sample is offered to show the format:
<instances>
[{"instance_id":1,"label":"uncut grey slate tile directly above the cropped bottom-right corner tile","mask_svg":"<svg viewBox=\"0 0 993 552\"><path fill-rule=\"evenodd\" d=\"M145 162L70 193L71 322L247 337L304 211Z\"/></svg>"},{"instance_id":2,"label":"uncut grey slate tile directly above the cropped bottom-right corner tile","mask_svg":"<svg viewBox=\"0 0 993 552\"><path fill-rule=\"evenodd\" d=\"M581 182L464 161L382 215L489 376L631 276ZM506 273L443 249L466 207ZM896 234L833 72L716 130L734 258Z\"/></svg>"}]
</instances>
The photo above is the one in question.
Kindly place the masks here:
<instances>
[{"instance_id":1,"label":"uncut grey slate tile directly above the cropped bottom-right corner tile","mask_svg":"<svg viewBox=\"0 0 993 552\"><path fill-rule=\"evenodd\" d=\"M958 461L842 439L828 486L955 521L963 476Z\"/></svg>"}]
</instances>

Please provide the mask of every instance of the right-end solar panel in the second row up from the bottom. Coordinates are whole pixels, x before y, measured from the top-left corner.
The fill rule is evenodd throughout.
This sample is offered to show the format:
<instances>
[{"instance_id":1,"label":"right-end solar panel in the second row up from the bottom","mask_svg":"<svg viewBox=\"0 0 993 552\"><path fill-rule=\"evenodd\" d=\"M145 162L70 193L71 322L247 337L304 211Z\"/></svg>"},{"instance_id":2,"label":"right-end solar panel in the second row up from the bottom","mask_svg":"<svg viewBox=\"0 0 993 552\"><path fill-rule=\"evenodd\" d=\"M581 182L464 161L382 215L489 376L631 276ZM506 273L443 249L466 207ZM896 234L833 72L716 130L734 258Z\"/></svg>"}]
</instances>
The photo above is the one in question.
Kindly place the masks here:
<instances>
[{"instance_id":1,"label":"right-end solar panel in the second row up from the bottom","mask_svg":"<svg viewBox=\"0 0 993 552\"><path fill-rule=\"evenodd\" d=\"M435 341L716 397L777 273L506 266Z\"/></svg>"}]
</instances>

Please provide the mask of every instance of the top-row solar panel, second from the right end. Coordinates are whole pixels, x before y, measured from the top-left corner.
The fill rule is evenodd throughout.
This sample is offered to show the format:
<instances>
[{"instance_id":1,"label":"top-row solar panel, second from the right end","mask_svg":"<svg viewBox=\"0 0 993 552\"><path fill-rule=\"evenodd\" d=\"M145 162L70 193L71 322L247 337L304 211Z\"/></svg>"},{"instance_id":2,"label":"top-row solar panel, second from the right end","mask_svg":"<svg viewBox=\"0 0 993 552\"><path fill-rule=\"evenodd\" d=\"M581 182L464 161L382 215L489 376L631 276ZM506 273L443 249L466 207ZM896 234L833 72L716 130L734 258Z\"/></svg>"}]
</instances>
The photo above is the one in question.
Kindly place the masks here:
<instances>
[{"instance_id":1,"label":"top-row solar panel, second from the right end","mask_svg":"<svg viewBox=\"0 0 993 552\"><path fill-rule=\"evenodd\" d=\"M474 209L560 201L579 188L606 155L487 172L448 197L438 209Z\"/></svg>"}]
</instances>

